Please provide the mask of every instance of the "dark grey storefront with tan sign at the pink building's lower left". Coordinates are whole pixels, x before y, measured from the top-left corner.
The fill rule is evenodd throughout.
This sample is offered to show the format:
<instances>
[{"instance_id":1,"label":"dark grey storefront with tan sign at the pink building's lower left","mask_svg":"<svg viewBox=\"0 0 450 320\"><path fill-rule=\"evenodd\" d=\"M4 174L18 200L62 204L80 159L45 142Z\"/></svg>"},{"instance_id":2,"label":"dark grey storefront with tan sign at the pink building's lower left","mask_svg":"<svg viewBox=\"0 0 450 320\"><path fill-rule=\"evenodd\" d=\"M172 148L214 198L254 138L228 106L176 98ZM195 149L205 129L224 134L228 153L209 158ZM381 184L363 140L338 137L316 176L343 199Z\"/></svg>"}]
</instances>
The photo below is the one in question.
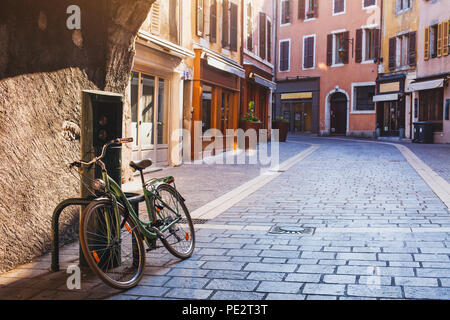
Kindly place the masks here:
<instances>
[{"instance_id":1,"label":"dark grey storefront with tan sign at the pink building's lower left","mask_svg":"<svg viewBox=\"0 0 450 320\"><path fill-rule=\"evenodd\" d=\"M275 117L289 121L290 133L319 133L319 78L277 83Z\"/></svg>"}]
</instances>

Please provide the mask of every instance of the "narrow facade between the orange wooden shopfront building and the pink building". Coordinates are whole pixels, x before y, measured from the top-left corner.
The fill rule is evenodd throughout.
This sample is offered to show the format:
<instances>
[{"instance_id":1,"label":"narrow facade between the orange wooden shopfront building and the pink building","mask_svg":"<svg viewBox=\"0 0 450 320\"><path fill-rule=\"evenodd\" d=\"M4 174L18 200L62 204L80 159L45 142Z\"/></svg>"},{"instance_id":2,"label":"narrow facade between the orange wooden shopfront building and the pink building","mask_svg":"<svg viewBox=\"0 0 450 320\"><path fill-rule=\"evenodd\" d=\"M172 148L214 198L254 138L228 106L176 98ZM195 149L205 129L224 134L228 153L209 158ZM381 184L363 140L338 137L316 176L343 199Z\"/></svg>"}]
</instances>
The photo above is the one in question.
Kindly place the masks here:
<instances>
[{"instance_id":1,"label":"narrow facade between the orange wooden shopfront building and the pink building","mask_svg":"<svg viewBox=\"0 0 450 320\"><path fill-rule=\"evenodd\" d=\"M272 93L274 80L274 12L273 0L244 0L242 53L245 79L242 81L241 112L245 116L250 102L255 104L261 128L272 128Z\"/></svg>"}]
</instances>

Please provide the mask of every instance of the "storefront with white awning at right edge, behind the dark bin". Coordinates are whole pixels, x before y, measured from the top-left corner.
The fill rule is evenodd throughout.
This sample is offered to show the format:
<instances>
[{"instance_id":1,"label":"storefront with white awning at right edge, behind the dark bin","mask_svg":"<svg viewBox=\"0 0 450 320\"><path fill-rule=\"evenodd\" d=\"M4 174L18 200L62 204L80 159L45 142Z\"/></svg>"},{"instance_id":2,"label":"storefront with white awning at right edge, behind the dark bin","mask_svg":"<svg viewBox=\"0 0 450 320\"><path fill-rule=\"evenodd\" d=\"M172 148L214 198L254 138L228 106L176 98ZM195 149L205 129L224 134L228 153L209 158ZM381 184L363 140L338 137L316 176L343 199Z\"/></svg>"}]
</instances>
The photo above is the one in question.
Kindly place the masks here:
<instances>
[{"instance_id":1,"label":"storefront with white awning at right edge, behind the dark bin","mask_svg":"<svg viewBox=\"0 0 450 320\"><path fill-rule=\"evenodd\" d=\"M434 142L450 143L450 90L449 74L416 79L409 85L415 92L415 121L433 124Z\"/></svg>"}]
</instances>

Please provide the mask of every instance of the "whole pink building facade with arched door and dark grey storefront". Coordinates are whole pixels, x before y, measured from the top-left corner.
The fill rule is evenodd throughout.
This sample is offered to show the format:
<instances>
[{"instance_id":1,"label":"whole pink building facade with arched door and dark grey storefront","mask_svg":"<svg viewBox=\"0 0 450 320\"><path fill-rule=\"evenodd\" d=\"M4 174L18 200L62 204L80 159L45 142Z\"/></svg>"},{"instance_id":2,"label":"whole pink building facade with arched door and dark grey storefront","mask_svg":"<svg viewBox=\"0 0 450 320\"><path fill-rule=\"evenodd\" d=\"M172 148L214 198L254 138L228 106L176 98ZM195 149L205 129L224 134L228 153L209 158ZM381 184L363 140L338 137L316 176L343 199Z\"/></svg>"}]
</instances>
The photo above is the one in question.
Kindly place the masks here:
<instances>
[{"instance_id":1,"label":"whole pink building facade with arched door and dark grey storefront","mask_svg":"<svg viewBox=\"0 0 450 320\"><path fill-rule=\"evenodd\" d=\"M278 0L275 116L291 133L375 134L380 0Z\"/></svg>"}]
</instances>

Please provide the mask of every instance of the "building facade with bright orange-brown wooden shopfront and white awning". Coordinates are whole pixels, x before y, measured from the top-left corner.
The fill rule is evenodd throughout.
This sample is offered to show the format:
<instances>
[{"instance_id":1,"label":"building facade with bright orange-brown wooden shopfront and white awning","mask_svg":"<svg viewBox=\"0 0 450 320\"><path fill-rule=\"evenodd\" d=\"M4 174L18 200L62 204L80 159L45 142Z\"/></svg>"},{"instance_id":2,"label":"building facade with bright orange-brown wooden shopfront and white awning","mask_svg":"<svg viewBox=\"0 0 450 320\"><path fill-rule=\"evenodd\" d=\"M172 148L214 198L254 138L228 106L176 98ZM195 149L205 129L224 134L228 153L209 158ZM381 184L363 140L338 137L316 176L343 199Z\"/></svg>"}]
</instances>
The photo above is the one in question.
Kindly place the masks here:
<instances>
[{"instance_id":1,"label":"building facade with bright orange-brown wooden shopfront and white awning","mask_svg":"<svg viewBox=\"0 0 450 320\"><path fill-rule=\"evenodd\" d=\"M183 12L186 45L195 54L187 59L193 70L192 100L185 105L184 128L191 133L191 155L201 159L235 148L239 126L242 1L193 0ZM189 90L189 89L187 89ZM228 131L227 131L228 130ZM214 143L212 143L214 142ZM200 146L200 147L199 147Z\"/></svg>"}]
</instances>

